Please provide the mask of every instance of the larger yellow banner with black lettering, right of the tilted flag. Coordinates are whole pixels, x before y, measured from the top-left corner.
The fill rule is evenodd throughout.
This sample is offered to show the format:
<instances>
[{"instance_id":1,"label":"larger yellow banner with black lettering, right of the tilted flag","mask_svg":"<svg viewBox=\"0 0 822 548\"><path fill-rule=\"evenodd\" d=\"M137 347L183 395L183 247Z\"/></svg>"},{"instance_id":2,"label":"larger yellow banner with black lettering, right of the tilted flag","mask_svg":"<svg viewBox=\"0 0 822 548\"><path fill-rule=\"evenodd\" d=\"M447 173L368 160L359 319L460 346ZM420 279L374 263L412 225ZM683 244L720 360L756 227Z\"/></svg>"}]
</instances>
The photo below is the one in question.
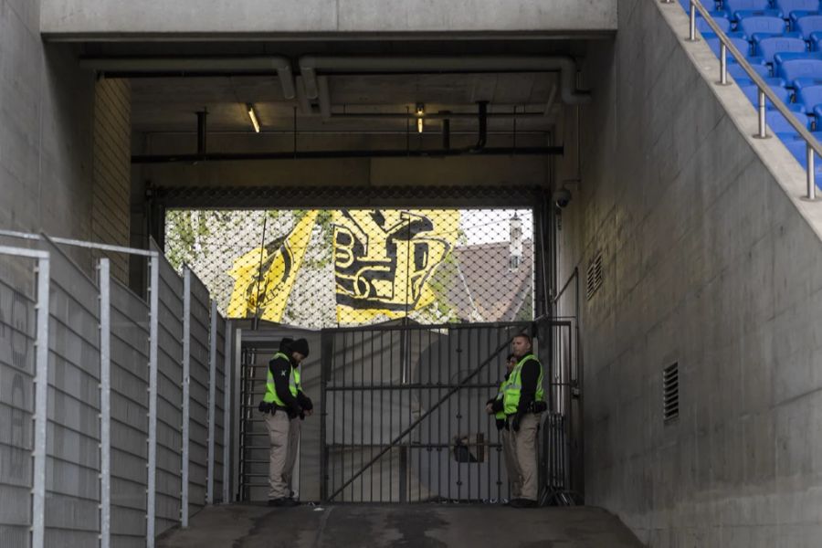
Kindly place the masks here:
<instances>
[{"instance_id":1,"label":"larger yellow banner with black lettering, right of the tilted flag","mask_svg":"<svg viewBox=\"0 0 822 548\"><path fill-rule=\"evenodd\" d=\"M334 211L337 321L400 318L435 300L427 282L458 238L455 209Z\"/></svg>"}]
</instances>

